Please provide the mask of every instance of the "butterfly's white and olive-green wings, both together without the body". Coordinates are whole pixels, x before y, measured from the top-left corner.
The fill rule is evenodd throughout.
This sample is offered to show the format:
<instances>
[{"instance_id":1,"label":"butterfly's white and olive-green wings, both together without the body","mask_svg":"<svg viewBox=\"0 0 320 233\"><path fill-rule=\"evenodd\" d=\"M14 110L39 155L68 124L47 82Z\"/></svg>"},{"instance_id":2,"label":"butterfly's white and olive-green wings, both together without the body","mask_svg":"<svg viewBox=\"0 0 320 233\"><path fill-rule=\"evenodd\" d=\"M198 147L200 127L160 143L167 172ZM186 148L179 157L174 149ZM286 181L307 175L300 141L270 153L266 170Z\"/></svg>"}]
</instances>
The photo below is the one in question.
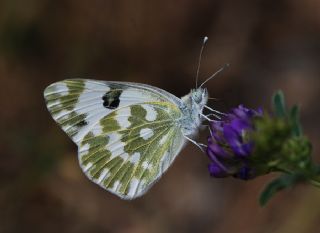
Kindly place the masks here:
<instances>
[{"instance_id":1,"label":"butterfly's white and olive-green wings, both together without the body","mask_svg":"<svg viewBox=\"0 0 320 233\"><path fill-rule=\"evenodd\" d=\"M124 199L144 194L185 139L179 99L148 85L65 80L45 90L53 118L78 145L90 180Z\"/></svg>"}]
</instances>

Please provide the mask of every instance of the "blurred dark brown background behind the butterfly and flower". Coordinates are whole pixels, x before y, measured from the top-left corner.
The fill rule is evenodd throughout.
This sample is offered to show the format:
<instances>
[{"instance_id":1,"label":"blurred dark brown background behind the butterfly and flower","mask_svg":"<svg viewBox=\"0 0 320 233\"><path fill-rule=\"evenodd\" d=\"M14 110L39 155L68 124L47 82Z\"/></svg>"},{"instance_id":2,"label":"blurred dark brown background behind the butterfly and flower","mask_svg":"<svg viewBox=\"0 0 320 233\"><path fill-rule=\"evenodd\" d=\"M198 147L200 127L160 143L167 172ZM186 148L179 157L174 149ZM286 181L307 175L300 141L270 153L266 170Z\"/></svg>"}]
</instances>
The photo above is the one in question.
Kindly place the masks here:
<instances>
[{"instance_id":1,"label":"blurred dark brown background behind the butterfly and flower","mask_svg":"<svg viewBox=\"0 0 320 233\"><path fill-rule=\"evenodd\" d=\"M269 107L283 89L319 161L319 12L316 0L1 0L0 232L319 232L319 190L300 185L261 208L273 175L213 179L194 145L145 196L122 201L83 175L42 96L75 77L185 95L208 36L200 79L231 64L207 84L210 106Z\"/></svg>"}]
</instances>

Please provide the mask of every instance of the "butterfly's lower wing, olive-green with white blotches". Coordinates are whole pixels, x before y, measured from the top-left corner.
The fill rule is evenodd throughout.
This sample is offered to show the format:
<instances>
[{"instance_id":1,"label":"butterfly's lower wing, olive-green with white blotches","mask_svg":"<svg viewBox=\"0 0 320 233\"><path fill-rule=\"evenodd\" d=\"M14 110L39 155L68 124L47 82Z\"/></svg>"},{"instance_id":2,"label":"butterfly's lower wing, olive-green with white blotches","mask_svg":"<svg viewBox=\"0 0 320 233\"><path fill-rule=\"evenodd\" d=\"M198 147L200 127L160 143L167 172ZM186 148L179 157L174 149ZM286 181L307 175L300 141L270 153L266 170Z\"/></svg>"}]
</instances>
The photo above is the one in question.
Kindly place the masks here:
<instances>
[{"instance_id":1,"label":"butterfly's lower wing, olive-green with white blotches","mask_svg":"<svg viewBox=\"0 0 320 233\"><path fill-rule=\"evenodd\" d=\"M179 109L168 102L117 109L96 125L102 129L99 136L93 128L81 141L83 171L121 198L141 196L167 170L185 142L176 124L180 116Z\"/></svg>"}]
</instances>

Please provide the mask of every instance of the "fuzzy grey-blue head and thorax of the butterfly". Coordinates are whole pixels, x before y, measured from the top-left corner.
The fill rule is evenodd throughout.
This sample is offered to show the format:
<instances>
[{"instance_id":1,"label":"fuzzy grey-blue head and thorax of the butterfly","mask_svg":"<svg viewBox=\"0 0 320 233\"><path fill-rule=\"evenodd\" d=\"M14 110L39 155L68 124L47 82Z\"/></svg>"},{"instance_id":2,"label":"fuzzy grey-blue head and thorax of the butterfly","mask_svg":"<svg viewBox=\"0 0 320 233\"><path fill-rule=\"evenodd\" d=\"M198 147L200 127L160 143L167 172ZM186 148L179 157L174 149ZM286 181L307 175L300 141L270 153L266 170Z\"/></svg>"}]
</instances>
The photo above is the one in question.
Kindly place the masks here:
<instances>
[{"instance_id":1,"label":"fuzzy grey-blue head and thorax of the butterfly","mask_svg":"<svg viewBox=\"0 0 320 233\"><path fill-rule=\"evenodd\" d=\"M208 92L206 89L193 89L188 95L183 96L179 106L183 117L179 120L184 135L197 133L203 118L201 113L208 102Z\"/></svg>"}]
</instances>

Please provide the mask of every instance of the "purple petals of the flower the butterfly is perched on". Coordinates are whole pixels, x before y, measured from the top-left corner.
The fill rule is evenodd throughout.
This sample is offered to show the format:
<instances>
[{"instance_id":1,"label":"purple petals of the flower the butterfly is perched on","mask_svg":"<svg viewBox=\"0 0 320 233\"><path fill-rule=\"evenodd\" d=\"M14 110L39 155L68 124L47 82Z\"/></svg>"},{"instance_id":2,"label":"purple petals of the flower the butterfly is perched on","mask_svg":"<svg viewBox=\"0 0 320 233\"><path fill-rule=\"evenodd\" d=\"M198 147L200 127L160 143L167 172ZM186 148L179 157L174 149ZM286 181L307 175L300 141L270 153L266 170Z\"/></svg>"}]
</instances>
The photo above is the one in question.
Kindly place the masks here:
<instances>
[{"instance_id":1,"label":"purple petals of the flower the butterfly is perched on","mask_svg":"<svg viewBox=\"0 0 320 233\"><path fill-rule=\"evenodd\" d=\"M209 172L217 178L233 176L248 180L255 177L249 157L254 142L248 135L254 130L253 118L262 116L262 110L252 110L239 105L221 121L210 124L207 155L211 163Z\"/></svg>"}]
</instances>

